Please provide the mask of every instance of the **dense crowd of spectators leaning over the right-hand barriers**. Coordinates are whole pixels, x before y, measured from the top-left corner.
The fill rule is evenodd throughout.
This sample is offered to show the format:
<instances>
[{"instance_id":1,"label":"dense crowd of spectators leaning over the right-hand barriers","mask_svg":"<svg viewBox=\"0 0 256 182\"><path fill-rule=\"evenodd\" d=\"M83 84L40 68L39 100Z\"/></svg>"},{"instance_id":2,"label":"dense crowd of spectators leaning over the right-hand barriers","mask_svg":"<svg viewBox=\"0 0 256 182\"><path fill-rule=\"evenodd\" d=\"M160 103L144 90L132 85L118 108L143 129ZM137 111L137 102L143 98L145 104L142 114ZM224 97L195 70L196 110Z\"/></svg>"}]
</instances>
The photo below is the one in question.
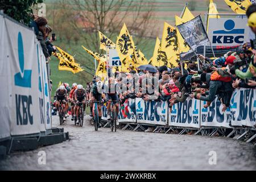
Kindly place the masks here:
<instances>
[{"instance_id":1,"label":"dense crowd of spectators leaning over the right-hand barriers","mask_svg":"<svg viewBox=\"0 0 256 182\"><path fill-rule=\"evenodd\" d=\"M247 9L248 26L256 34L256 5ZM230 106L236 88L256 88L256 42L251 40L227 52L222 57L210 59L199 55L200 64L188 61L176 68L162 66L157 73L131 69L130 73L116 72L121 90L121 104L127 98L143 98L144 101L167 101L172 107L188 97L207 101L210 106L216 99L222 103L222 111ZM183 69L183 71L181 71ZM130 106L136 113L135 103Z\"/></svg>"}]
</instances>

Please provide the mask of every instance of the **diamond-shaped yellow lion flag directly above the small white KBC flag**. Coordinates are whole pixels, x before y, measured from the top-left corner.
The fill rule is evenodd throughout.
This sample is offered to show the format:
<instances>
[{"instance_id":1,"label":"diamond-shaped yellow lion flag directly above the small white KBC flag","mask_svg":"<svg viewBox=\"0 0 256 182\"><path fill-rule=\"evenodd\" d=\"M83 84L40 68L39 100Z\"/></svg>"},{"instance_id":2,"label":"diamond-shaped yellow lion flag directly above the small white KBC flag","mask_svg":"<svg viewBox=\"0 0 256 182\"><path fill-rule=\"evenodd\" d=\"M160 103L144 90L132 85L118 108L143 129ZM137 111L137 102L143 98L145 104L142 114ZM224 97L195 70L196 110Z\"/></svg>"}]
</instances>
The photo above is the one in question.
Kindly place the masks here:
<instances>
[{"instance_id":1,"label":"diamond-shaped yellow lion flag directly above the small white KBC flag","mask_svg":"<svg viewBox=\"0 0 256 182\"><path fill-rule=\"evenodd\" d=\"M134 53L134 42L133 38L131 38L126 24L123 24L122 30L117 38L117 52L121 59L126 59L127 56L131 56Z\"/></svg>"}]
</instances>

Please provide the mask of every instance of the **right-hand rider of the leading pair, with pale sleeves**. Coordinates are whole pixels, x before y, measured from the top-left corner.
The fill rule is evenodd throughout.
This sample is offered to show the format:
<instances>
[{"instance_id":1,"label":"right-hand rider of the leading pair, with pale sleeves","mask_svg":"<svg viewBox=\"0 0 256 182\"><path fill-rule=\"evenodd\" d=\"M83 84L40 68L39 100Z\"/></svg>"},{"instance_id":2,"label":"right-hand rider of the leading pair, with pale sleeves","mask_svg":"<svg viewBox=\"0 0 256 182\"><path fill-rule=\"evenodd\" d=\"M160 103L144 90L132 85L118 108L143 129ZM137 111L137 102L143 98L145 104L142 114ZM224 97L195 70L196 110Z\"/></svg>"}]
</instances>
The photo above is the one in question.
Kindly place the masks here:
<instances>
[{"instance_id":1,"label":"right-hand rider of the leading pair, with pale sleeves","mask_svg":"<svg viewBox=\"0 0 256 182\"><path fill-rule=\"evenodd\" d=\"M104 93L105 93L104 99L108 100L107 119L110 120L111 102L115 101L114 104L116 108L116 113L118 115L118 111L119 111L118 95L121 94L121 89L119 87L119 84L115 82L113 77L110 77L107 84L104 85ZM118 121L117 121L117 125L119 125Z\"/></svg>"}]
</instances>

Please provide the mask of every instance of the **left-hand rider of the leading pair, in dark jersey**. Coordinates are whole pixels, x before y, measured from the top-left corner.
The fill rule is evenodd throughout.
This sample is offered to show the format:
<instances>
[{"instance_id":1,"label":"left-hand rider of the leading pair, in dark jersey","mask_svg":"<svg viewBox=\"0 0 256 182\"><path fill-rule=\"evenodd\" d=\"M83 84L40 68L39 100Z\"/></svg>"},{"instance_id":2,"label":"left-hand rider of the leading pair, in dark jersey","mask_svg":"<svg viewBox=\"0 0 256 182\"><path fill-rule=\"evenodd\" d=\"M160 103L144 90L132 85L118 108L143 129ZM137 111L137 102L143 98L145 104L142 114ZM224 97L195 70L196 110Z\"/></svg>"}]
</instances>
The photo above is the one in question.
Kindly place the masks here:
<instances>
[{"instance_id":1,"label":"left-hand rider of the leading pair, in dark jersey","mask_svg":"<svg viewBox=\"0 0 256 182\"><path fill-rule=\"evenodd\" d=\"M102 91L104 88L104 84L100 81L100 78L97 79L97 82L92 85L92 96L94 101L100 102L102 100ZM101 127L101 103L97 103L98 106L98 127Z\"/></svg>"}]
</instances>

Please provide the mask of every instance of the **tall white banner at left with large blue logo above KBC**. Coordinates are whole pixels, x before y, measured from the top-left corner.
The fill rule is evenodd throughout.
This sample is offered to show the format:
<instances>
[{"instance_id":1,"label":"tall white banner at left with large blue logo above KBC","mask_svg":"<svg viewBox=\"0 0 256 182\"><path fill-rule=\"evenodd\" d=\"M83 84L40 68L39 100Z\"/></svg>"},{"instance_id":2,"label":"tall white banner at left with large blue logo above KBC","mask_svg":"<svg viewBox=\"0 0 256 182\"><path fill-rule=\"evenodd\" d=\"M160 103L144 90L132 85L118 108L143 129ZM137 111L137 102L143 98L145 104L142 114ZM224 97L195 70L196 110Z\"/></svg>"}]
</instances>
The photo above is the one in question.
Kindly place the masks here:
<instances>
[{"instance_id":1,"label":"tall white banner at left with large blue logo above KBC","mask_svg":"<svg viewBox=\"0 0 256 182\"><path fill-rule=\"evenodd\" d=\"M5 19L6 52L10 63L11 135L35 134L43 131L39 119L39 72L34 32ZM40 127L41 125L41 127Z\"/></svg>"}]
</instances>

